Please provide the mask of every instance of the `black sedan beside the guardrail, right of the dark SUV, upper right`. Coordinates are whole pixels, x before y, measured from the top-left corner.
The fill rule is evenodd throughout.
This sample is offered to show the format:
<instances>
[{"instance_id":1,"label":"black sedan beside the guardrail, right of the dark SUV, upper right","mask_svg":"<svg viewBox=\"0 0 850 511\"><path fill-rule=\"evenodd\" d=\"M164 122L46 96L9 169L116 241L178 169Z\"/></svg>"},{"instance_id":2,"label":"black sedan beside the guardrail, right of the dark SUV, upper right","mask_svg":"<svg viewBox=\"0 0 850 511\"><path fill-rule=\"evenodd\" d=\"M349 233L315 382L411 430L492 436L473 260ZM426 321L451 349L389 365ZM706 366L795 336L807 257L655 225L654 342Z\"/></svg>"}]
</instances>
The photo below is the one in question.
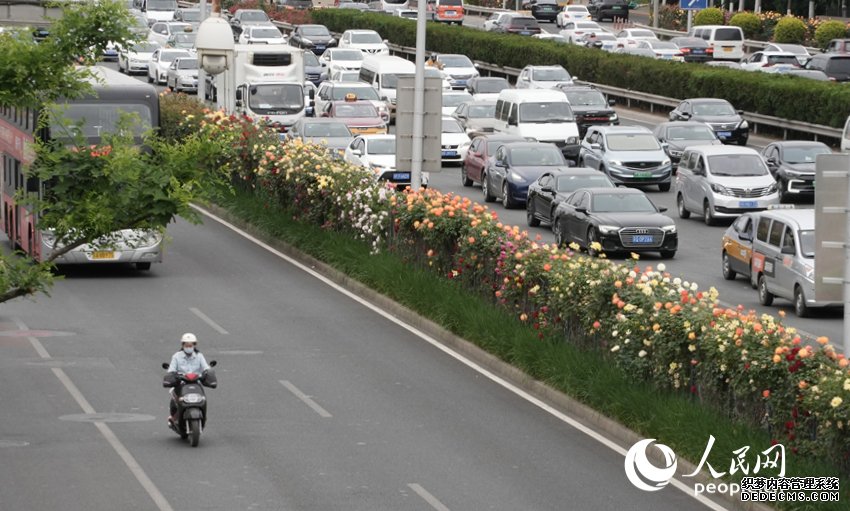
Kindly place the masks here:
<instances>
[{"instance_id":1,"label":"black sedan beside the guardrail, right of the dark SUV, upper right","mask_svg":"<svg viewBox=\"0 0 850 511\"><path fill-rule=\"evenodd\" d=\"M743 113L725 99L693 98L679 103L670 112L670 120L704 122L724 144L747 145L750 125L741 117Z\"/></svg>"}]
</instances>

